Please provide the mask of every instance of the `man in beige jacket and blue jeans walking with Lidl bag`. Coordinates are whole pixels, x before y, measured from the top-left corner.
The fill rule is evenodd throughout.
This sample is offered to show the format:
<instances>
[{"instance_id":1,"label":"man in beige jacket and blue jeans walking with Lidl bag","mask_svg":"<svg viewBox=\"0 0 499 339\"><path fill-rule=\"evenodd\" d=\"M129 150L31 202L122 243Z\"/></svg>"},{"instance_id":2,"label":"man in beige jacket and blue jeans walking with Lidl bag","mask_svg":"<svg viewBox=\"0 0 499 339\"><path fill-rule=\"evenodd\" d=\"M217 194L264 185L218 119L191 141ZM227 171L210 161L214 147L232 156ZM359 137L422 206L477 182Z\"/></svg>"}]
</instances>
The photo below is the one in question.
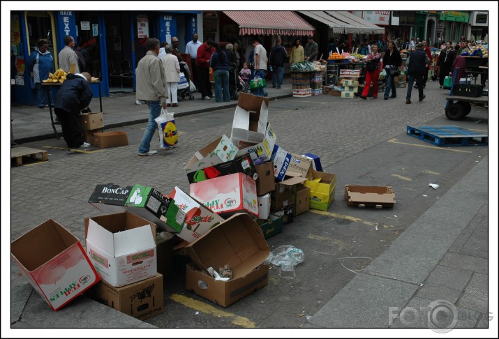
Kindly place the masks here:
<instances>
[{"instance_id":1,"label":"man in beige jacket and blue jeans walking with Lidl bag","mask_svg":"<svg viewBox=\"0 0 499 339\"><path fill-rule=\"evenodd\" d=\"M142 142L139 146L139 156L152 156L158 151L151 150L151 140L158 130L156 118L161 113L161 107L166 109L166 77L163 63L158 58L159 40L148 38L147 54L137 64L137 100L144 100L149 106L149 121L147 122Z\"/></svg>"}]
</instances>

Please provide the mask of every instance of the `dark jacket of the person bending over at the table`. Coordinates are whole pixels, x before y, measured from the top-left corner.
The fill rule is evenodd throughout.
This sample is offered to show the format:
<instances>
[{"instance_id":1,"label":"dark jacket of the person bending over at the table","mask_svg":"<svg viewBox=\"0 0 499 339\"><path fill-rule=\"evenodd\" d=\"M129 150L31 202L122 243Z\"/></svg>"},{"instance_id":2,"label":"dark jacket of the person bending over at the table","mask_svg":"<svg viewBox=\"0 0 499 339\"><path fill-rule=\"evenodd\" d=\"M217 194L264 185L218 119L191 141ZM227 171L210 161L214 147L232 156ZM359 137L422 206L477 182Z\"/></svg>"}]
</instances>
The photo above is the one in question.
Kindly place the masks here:
<instances>
[{"instance_id":1,"label":"dark jacket of the person bending over at the table","mask_svg":"<svg viewBox=\"0 0 499 339\"><path fill-rule=\"evenodd\" d=\"M68 74L55 94L54 108L77 115L89 107L91 100L92 90L87 79L81 74Z\"/></svg>"}]
</instances>

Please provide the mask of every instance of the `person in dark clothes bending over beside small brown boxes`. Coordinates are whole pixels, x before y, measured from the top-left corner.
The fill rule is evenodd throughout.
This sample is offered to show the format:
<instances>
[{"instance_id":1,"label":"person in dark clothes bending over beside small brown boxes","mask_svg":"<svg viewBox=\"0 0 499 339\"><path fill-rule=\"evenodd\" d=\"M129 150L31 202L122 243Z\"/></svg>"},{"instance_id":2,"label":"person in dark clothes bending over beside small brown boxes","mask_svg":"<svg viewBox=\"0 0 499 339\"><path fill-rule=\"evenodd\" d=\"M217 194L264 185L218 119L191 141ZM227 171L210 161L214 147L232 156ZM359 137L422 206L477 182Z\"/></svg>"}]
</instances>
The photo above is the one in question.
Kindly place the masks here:
<instances>
[{"instance_id":1,"label":"person in dark clothes bending over beside small brown boxes","mask_svg":"<svg viewBox=\"0 0 499 339\"><path fill-rule=\"evenodd\" d=\"M61 121L62 135L68 147L89 147L84 142L80 126L80 112L89 107L92 90L89 73L68 74L55 95L55 114Z\"/></svg>"}]
</instances>

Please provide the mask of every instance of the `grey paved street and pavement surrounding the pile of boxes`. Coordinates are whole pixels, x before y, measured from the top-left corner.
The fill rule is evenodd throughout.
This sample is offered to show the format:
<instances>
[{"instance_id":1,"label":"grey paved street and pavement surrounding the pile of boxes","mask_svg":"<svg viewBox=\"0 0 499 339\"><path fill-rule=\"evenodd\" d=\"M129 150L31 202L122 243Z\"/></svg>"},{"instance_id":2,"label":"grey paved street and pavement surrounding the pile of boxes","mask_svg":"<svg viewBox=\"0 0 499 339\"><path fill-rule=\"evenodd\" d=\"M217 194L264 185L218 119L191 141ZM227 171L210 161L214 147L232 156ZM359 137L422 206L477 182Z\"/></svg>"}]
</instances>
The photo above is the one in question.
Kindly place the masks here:
<instances>
[{"instance_id":1,"label":"grey paved street and pavement surrounding the pile of boxes","mask_svg":"<svg viewBox=\"0 0 499 339\"><path fill-rule=\"evenodd\" d=\"M317 154L325 171L338 176L329 211L297 216L283 233L268 240L271 250L281 245L304 250L306 259L295 267L295 278L281 278L274 267L269 285L222 308L186 291L178 255L174 274L165 280L165 312L140 322L86 296L53 312L10 259L10 327L304 328L311 336L317 329L415 327L423 329L401 335L422 331L418 333L424 336L431 331L427 324L408 325L396 317L389 322L388 308L426 307L439 299L453 303L460 315L470 315L460 316L457 327L489 326L488 312L495 310L497 317L497 303L490 299L486 283L497 279L496 269L489 277L489 257L497 256L496 246L490 253L488 247L489 237L497 235L496 229L489 229L489 161L496 166L489 159L489 146L435 146L406 133L407 126L423 125L487 133L488 109L472 107L462 121L449 121L444 112L448 91L438 89L438 82L428 83L422 102L412 91L411 105L405 105L406 89L398 89L397 98L389 100L291 98L289 84L267 91L277 144L289 152ZM12 108L16 146L48 150L49 161L10 168L10 238L4 233L4 241L52 218L84 244L84 218L101 214L87 203L100 183L140 183L162 193L179 186L188 192L184 165L202 146L223 134L230 136L236 103L181 102L176 117L179 145L140 157L137 147L148 110L134 102L135 96L103 98L107 128L125 130L129 145L89 151L66 149L64 140L55 139L46 109ZM91 108L98 111L95 98ZM26 126L31 112L36 128ZM158 149L157 142L154 137L153 149ZM2 144L5 147L5 140ZM4 159L2 163L5 167ZM434 190L429 183L440 187ZM345 184L392 186L396 204L393 209L346 206ZM3 245L8 248L8 243ZM497 329L497 320L493 326Z\"/></svg>"}]
</instances>

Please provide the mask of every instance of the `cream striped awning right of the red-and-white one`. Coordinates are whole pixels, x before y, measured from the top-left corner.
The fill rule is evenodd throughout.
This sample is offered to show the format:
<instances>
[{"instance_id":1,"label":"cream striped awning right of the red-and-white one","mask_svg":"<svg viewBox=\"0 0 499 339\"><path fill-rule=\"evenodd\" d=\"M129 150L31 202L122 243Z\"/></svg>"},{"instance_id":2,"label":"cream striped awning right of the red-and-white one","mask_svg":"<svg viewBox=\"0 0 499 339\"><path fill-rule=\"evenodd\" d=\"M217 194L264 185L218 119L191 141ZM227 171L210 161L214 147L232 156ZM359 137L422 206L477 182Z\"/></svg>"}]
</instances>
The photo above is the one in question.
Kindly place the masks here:
<instances>
[{"instance_id":1,"label":"cream striped awning right of the red-and-white one","mask_svg":"<svg viewBox=\"0 0 499 339\"><path fill-rule=\"evenodd\" d=\"M385 33L383 27L376 26L362 17L357 17L343 10L300 10L299 13L327 24L333 33Z\"/></svg>"}]
</instances>

